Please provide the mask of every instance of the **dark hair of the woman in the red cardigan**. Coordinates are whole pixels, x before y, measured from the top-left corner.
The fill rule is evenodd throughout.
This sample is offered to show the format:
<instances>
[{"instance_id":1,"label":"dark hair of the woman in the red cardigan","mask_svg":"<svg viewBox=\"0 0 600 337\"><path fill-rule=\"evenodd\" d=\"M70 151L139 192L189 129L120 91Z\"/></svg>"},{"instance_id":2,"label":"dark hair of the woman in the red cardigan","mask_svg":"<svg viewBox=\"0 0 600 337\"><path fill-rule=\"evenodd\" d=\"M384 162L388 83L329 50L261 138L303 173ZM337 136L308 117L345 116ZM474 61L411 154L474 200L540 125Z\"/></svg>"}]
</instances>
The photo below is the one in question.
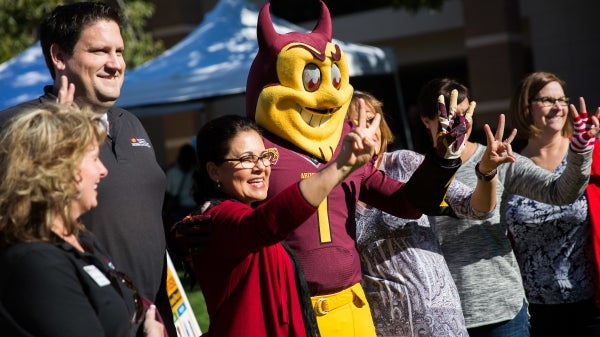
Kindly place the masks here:
<instances>
[{"instance_id":1,"label":"dark hair of the woman in the red cardigan","mask_svg":"<svg viewBox=\"0 0 600 337\"><path fill-rule=\"evenodd\" d=\"M220 164L229 153L231 140L240 132L256 131L262 134L256 123L239 115L225 115L206 123L196 136L198 169L194 174L194 200L198 205L210 199L229 198L210 179L206 164Z\"/></svg>"}]
</instances>

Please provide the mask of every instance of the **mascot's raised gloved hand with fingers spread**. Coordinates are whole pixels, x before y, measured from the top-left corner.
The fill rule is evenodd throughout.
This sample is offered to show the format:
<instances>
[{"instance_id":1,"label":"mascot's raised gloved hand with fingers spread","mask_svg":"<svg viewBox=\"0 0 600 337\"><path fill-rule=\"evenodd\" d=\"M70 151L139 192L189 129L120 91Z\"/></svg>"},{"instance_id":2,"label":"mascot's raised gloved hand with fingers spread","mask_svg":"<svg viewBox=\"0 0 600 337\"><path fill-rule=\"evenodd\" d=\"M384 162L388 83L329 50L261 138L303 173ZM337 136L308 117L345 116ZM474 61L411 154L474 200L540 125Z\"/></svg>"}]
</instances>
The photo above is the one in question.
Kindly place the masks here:
<instances>
[{"instance_id":1,"label":"mascot's raised gloved hand with fingers spread","mask_svg":"<svg viewBox=\"0 0 600 337\"><path fill-rule=\"evenodd\" d=\"M445 159L458 159L465 149L467 142L467 129L473 121L475 102L469 104L465 115L457 113L458 91L450 93L450 111L446 110L444 96L438 98L438 118L440 121L436 141L436 152L438 156Z\"/></svg>"}]
</instances>

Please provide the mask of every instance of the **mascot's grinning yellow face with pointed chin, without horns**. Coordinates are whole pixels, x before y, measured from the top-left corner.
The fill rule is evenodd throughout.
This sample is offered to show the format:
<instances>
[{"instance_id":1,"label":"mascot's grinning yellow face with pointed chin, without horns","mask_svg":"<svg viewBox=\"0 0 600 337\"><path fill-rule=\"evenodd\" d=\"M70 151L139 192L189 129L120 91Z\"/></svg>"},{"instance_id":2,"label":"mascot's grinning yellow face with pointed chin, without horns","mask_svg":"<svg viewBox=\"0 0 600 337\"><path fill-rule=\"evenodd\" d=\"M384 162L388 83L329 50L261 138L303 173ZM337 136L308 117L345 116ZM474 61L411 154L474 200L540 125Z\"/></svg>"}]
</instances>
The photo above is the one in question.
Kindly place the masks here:
<instances>
[{"instance_id":1,"label":"mascot's grinning yellow face with pointed chin, without horns","mask_svg":"<svg viewBox=\"0 0 600 337\"><path fill-rule=\"evenodd\" d=\"M324 52L290 43L277 57L278 84L265 86L256 122L311 155L329 161L337 147L352 99L348 66L340 48Z\"/></svg>"}]
</instances>

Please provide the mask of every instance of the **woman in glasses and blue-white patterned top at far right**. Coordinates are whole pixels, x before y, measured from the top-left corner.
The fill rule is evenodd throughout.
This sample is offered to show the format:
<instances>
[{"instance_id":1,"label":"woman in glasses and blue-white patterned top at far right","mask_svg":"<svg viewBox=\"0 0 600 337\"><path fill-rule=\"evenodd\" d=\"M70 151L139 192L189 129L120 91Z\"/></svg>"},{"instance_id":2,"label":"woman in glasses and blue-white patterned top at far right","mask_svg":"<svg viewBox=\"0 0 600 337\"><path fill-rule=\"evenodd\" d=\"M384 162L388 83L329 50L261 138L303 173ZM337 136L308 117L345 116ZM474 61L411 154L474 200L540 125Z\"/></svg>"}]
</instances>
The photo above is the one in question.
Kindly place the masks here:
<instances>
[{"instance_id":1,"label":"woman in glasses and blue-white patterned top at far right","mask_svg":"<svg viewBox=\"0 0 600 337\"><path fill-rule=\"evenodd\" d=\"M519 84L510 113L520 137L527 139L521 155L539 167L561 174L569 148L591 152L595 133L573 132L586 128L585 102L571 118L574 105L565 96L565 82L548 72L535 72ZM587 121L597 132L597 116ZM598 184L592 177L590 184ZM593 324L600 313L594 305L597 267L592 246L588 196L554 206L518 195L502 201L503 222L508 226L521 269L531 315L531 336L599 336Z\"/></svg>"}]
</instances>

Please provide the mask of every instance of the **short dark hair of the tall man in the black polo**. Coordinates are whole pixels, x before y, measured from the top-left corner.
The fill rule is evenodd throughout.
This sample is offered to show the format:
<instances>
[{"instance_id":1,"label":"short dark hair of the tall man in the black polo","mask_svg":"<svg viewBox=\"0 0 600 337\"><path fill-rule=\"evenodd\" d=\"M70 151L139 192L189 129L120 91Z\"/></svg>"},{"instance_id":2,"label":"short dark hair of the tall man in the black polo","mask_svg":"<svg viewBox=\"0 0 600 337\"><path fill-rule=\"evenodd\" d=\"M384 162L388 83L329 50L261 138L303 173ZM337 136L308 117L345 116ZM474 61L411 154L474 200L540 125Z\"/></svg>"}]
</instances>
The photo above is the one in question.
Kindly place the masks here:
<instances>
[{"instance_id":1,"label":"short dark hair of the tall man in the black polo","mask_svg":"<svg viewBox=\"0 0 600 337\"><path fill-rule=\"evenodd\" d=\"M123 19L118 9L101 2L76 2L57 6L39 26L39 36L46 66L54 79L54 64L50 47L57 44L62 51L73 55L81 32L98 21L114 21L122 27Z\"/></svg>"}]
</instances>

